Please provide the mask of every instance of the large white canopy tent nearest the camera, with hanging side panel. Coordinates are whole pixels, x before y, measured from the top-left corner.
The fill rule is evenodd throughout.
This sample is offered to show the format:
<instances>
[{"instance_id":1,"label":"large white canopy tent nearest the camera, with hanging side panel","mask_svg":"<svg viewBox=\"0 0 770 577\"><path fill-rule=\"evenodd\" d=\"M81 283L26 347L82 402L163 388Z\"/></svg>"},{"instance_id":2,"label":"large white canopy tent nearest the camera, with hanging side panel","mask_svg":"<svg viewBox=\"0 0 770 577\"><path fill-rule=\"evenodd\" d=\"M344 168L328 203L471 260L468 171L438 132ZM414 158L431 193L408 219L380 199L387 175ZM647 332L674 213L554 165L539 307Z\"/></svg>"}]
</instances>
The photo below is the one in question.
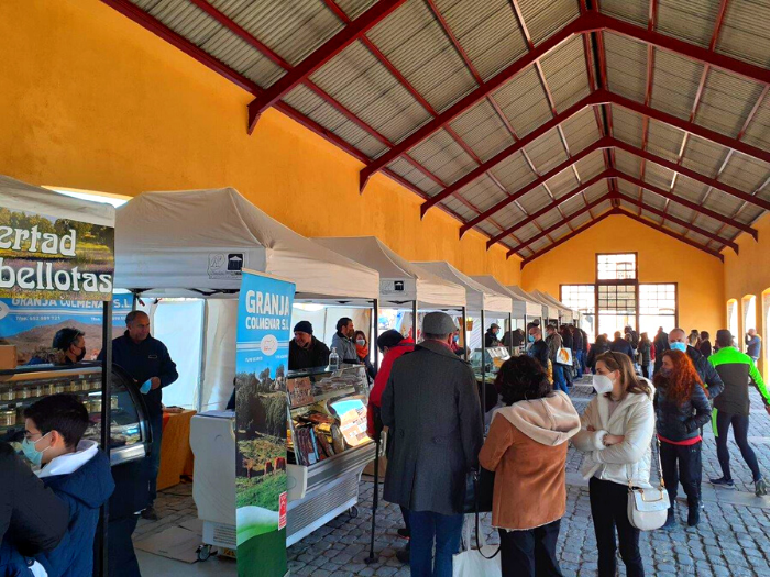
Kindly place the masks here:
<instances>
[{"instance_id":1,"label":"large white canopy tent nearest the camera, with hanging side panel","mask_svg":"<svg viewBox=\"0 0 770 577\"><path fill-rule=\"evenodd\" d=\"M376 270L297 234L233 188L132 199L117 211L116 284L147 297L206 298L202 409L223 408L232 392L241 268L295 282L299 301L371 307L380 292Z\"/></svg>"}]
</instances>

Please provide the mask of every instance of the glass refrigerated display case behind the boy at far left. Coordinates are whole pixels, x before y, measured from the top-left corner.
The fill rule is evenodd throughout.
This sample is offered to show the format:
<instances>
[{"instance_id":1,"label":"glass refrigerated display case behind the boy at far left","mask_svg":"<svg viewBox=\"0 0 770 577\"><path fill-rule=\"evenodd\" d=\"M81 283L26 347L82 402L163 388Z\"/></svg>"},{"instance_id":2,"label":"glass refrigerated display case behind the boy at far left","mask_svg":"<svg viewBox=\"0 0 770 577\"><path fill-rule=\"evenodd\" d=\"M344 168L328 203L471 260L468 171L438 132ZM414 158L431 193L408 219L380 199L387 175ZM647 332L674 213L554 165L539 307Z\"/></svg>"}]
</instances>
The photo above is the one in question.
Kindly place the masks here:
<instances>
[{"instance_id":1,"label":"glass refrigerated display case behind the boy at far left","mask_svg":"<svg viewBox=\"0 0 770 577\"><path fill-rule=\"evenodd\" d=\"M21 441L24 409L50 395L77 396L88 409L91 424L85 439L101 441L101 363L76 366L33 365L0 371L0 441ZM133 379L113 367L110 391L110 463L144 458L150 451L146 409Z\"/></svg>"}]
</instances>

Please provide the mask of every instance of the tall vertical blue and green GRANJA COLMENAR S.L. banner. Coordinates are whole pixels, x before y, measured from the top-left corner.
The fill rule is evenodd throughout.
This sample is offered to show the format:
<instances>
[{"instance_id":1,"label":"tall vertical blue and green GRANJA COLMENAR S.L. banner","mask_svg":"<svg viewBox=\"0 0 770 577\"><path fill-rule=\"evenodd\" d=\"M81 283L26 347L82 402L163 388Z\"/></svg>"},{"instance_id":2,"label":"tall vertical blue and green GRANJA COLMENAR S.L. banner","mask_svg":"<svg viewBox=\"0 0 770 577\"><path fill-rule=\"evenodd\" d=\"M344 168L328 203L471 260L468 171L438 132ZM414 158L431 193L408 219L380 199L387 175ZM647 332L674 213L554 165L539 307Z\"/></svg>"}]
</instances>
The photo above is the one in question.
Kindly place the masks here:
<instances>
[{"instance_id":1,"label":"tall vertical blue and green GRANJA COLMENAR S.L. banner","mask_svg":"<svg viewBox=\"0 0 770 577\"><path fill-rule=\"evenodd\" d=\"M283 577L286 371L295 285L243 271L238 306L235 507L239 577Z\"/></svg>"}]
</instances>

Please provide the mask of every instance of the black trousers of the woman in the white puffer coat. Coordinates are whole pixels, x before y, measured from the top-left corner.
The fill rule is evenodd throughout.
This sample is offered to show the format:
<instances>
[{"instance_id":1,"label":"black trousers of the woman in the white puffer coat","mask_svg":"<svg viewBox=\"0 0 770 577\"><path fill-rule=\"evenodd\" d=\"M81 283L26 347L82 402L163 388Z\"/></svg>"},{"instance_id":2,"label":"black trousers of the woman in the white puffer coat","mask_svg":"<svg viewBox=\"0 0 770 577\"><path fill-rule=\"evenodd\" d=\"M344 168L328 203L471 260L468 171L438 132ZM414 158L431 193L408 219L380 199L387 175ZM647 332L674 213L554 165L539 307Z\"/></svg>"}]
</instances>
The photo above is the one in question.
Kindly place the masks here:
<instances>
[{"instance_id":1,"label":"black trousers of the woman in the white puffer coat","mask_svg":"<svg viewBox=\"0 0 770 577\"><path fill-rule=\"evenodd\" d=\"M628 577L644 577L639 553L639 530L628 521L628 486L592 477L588 484L591 515L598 548L598 577L615 577L619 546ZM617 543L615 530L617 529Z\"/></svg>"}]
</instances>

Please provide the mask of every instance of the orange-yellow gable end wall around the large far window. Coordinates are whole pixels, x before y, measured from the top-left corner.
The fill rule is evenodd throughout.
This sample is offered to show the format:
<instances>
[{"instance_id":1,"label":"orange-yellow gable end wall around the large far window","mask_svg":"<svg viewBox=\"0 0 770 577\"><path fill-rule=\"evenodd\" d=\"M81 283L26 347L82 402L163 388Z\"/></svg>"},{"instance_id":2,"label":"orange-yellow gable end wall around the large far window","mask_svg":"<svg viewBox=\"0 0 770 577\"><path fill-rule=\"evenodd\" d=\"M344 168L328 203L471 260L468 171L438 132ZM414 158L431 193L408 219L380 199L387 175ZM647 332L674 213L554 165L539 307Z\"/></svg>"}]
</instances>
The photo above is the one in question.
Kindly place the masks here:
<instances>
[{"instance_id":1,"label":"orange-yellow gable end wall around the large far window","mask_svg":"<svg viewBox=\"0 0 770 577\"><path fill-rule=\"evenodd\" d=\"M559 298L560 285L593 284L596 253L638 253L640 282L679 284L679 324L714 335L725 319L724 266L716 257L627 217L609 217L522 270L526 290Z\"/></svg>"}]
</instances>

